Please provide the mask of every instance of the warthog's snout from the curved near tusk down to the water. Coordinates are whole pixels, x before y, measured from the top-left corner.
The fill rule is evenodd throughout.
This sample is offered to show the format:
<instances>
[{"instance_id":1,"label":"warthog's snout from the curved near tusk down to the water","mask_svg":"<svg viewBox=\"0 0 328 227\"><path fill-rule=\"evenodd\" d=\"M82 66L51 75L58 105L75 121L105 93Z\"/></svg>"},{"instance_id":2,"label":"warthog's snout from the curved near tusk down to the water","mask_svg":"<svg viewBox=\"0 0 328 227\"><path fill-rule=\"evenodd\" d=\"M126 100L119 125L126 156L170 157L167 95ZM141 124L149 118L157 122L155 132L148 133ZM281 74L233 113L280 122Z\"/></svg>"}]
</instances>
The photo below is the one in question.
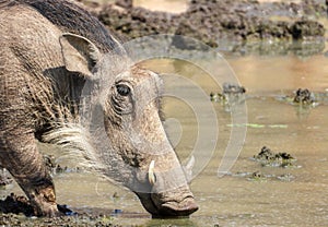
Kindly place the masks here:
<instances>
[{"instance_id":1,"label":"warthog's snout from the curved near tusk down to the water","mask_svg":"<svg viewBox=\"0 0 328 227\"><path fill-rule=\"evenodd\" d=\"M198 210L185 172L174 154L169 150L157 156L156 162L152 159L145 177L144 174L137 177L140 184L132 187L153 217L188 216Z\"/></svg>"}]
</instances>

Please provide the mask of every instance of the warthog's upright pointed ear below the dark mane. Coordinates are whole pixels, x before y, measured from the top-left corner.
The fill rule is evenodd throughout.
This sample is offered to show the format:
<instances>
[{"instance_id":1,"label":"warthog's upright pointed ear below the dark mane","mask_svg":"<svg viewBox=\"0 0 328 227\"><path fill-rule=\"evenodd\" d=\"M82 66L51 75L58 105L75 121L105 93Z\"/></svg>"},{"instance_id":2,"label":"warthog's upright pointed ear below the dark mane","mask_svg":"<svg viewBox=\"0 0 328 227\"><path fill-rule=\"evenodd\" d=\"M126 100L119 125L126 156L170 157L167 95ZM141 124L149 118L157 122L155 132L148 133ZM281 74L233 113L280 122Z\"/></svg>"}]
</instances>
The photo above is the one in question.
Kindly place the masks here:
<instances>
[{"instance_id":1,"label":"warthog's upright pointed ear below the dark mane","mask_svg":"<svg viewBox=\"0 0 328 227\"><path fill-rule=\"evenodd\" d=\"M92 77L92 69L101 58L98 48L87 38L65 33L59 38L66 69Z\"/></svg>"}]
</instances>

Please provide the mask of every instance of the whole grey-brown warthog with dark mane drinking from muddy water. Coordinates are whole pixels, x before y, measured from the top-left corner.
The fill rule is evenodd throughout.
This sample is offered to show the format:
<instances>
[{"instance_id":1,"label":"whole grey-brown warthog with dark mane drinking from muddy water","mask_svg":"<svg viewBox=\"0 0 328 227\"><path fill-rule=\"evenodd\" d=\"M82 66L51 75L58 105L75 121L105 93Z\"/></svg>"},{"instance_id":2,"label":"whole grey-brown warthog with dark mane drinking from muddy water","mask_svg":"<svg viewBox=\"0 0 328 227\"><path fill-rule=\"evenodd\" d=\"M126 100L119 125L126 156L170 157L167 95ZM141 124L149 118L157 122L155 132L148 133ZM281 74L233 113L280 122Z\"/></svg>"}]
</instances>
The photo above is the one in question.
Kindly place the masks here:
<instances>
[{"instance_id":1,"label":"whole grey-brown warthog with dark mane drinking from muddy water","mask_svg":"<svg viewBox=\"0 0 328 227\"><path fill-rule=\"evenodd\" d=\"M60 215L37 140L75 147L104 176L114 169L153 216L198 210L159 116L159 75L129 67L94 16L67 0L0 0L0 165L36 215ZM81 123L89 82L106 84L96 109L108 151L94 148Z\"/></svg>"}]
</instances>

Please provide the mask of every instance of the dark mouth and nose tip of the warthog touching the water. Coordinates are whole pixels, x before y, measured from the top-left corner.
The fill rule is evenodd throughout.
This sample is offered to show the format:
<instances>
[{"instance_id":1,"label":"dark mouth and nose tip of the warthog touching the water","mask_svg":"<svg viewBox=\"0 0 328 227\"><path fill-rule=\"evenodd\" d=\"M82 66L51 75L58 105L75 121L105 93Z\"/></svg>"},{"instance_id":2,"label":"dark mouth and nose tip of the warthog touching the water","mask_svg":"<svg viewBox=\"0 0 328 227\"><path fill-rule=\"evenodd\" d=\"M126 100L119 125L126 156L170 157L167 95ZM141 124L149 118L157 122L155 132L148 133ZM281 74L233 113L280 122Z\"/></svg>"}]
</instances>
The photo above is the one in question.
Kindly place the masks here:
<instances>
[{"instance_id":1,"label":"dark mouth and nose tip of the warthog touching the water","mask_svg":"<svg viewBox=\"0 0 328 227\"><path fill-rule=\"evenodd\" d=\"M165 201L161 203L155 201L155 194L151 193L136 193L143 207L152 214L153 218L169 218L169 217L188 217L198 210L192 195L187 195L181 201ZM157 205L160 204L160 205Z\"/></svg>"}]
</instances>

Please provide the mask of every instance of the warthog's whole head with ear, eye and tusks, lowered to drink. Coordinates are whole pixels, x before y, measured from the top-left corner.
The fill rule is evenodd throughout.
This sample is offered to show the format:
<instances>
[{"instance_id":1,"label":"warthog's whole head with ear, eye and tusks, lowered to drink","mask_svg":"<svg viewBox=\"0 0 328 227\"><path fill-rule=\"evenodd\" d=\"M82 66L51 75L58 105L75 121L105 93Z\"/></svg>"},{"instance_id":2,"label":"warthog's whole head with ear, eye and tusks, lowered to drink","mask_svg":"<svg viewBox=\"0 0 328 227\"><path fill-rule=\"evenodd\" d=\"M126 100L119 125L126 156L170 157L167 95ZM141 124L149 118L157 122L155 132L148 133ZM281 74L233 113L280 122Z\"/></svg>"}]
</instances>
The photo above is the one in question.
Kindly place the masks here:
<instances>
[{"instance_id":1,"label":"warthog's whole head with ear, eye and tusks, lowered to drink","mask_svg":"<svg viewBox=\"0 0 328 227\"><path fill-rule=\"evenodd\" d=\"M101 53L81 36L65 34L60 44L67 70L101 87L98 112L93 112L92 121L101 121L104 133L94 130L98 148L89 151L98 169L132 190L153 216L187 216L197 211L160 119L160 76L129 67L126 57Z\"/></svg>"}]
</instances>

